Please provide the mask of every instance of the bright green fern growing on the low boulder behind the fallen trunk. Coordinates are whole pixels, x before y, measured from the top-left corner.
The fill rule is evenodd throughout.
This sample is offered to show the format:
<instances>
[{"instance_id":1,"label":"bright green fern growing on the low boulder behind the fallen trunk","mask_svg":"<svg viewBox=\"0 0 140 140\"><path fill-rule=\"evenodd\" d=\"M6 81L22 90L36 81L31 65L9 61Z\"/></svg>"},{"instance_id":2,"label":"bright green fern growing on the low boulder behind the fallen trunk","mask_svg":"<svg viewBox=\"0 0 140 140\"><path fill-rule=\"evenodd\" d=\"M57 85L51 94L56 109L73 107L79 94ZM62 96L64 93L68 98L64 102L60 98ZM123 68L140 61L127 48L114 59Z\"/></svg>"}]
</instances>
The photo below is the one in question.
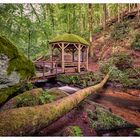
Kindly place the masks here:
<instances>
[{"instance_id":1,"label":"bright green fern growing on the low boulder behind the fallen trunk","mask_svg":"<svg viewBox=\"0 0 140 140\"><path fill-rule=\"evenodd\" d=\"M50 95L48 91L44 91L39 99L40 104L45 104L54 101L55 97L53 95Z\"/></svg>"}]
</instances>

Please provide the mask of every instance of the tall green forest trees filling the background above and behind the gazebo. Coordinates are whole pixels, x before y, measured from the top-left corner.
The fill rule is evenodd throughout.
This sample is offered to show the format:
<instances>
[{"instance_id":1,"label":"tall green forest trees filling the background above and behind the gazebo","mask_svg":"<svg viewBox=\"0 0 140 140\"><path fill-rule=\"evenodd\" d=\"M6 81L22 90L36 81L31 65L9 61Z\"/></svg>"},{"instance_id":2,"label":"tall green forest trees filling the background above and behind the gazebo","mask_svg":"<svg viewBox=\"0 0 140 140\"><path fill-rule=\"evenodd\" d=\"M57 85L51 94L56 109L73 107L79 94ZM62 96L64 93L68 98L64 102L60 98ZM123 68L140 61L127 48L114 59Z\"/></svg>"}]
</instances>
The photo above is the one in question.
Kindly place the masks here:
<instances>
[{"instance_id":1,"label":"tall green forest trees filling the background above and behind the gazebo","mask_svg":"<svg viewBox=\"0 0 140 140\"><path fill-rule=\"evenodd\" d=\"M28 58L49 54L49 40L73 33L92 42L106 23L138 4L0 4L0 35L9 38Z\"/></svg>"}]
</instances>

